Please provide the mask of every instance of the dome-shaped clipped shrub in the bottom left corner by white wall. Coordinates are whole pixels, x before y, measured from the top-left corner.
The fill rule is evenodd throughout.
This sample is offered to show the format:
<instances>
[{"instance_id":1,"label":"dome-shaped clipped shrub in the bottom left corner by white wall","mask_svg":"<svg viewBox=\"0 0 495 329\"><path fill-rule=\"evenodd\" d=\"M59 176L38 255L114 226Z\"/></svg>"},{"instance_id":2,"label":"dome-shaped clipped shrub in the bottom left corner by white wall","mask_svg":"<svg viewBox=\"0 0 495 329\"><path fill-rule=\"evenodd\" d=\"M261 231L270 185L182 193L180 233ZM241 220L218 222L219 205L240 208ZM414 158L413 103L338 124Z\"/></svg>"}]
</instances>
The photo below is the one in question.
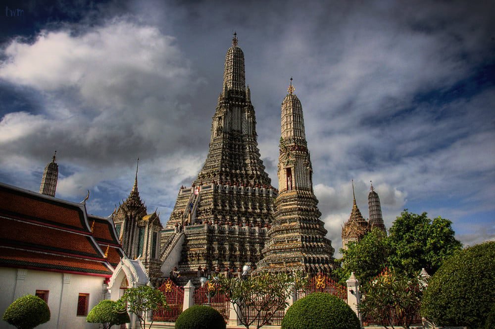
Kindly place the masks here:
<instances>
[{"instance_id":1,"label":"dome-shaped clipped shrub in the bottom left corner by white wall","mask_svg":"<svg viewBox=\"0 0 495 329\"><path fill-rule=\"evenodd\" d=\"M40 297L26 295L10 304L2 319L17 329L32 329L50 320L50 309Z\"/></svg>"}]
</instances>

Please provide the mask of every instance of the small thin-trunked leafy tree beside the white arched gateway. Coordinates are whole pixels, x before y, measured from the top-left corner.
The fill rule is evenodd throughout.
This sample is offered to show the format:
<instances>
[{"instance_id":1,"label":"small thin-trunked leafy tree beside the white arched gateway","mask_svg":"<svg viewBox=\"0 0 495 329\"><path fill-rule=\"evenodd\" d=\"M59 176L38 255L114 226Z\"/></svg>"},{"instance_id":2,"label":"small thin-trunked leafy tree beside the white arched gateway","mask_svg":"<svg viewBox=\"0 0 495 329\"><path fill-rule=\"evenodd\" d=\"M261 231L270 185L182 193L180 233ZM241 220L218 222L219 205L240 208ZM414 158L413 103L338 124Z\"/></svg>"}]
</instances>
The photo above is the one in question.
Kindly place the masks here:
<instances>
[{"instance_id":1,"label":"small thin-trunked leafy tree beside the white arched gateway","mask_svg":"<svg viewBox=\"0 0 495 329\"><path fill-rule=\"evenodd\" d=\"M129 288L126 293L117 301L117 312L134 313L138 319L141 328L146 328L146 314L156 310L158 307L168 307L165 295L148 285L142 285L137 288ZM149 324L151 328L153 321Z\"/></svg>"}]
</instances>

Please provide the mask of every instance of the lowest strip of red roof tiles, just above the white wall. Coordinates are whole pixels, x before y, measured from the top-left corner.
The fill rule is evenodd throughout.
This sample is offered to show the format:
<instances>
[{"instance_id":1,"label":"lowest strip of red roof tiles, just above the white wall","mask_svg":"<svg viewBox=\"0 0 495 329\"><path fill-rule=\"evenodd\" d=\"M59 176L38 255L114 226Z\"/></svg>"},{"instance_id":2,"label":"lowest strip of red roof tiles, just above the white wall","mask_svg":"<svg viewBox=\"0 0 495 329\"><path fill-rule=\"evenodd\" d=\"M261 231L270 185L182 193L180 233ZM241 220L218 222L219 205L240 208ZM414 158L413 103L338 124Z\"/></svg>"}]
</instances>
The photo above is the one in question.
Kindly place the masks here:
<instances>
[{"instance_id":1,"label":"lowest strip of red roof tiles, just above the white wall","mask_svg":"<svg viewBox=\"0 0 495 329\"><path fill-rule=\"evenodd\" d=\"M61 272L76 272L80 274L112 275L112 271L110 271L104 263L98 261L17 250L1 246L0 265L28 267L40 270L57 270Z\"/></svg>"}]
</instances>

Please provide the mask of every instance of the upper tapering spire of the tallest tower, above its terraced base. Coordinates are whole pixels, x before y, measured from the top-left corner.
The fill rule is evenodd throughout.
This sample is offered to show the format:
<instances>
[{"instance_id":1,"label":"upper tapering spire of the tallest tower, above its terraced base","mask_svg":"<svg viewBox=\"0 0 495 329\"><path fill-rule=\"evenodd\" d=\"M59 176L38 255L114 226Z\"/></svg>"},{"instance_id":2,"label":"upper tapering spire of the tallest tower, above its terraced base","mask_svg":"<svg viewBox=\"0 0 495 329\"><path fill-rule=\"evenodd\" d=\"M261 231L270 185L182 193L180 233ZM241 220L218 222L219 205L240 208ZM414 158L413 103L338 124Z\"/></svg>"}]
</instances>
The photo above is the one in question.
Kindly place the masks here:
<instances>
[{"instance_id":1,"label":"upper tapering spire of the tallest tower, above its terraced base","mask_svg":"<svg viewBox=\"0 0 495 329\"><path fill-rule=\"evenodd\" d=\"M246 87L244 53L234 32L225 55L223 91L211 122L206 161L194 184L213 181L245 186L270 186L256 141L256 117Z\"/></svg>"}]
</instances>

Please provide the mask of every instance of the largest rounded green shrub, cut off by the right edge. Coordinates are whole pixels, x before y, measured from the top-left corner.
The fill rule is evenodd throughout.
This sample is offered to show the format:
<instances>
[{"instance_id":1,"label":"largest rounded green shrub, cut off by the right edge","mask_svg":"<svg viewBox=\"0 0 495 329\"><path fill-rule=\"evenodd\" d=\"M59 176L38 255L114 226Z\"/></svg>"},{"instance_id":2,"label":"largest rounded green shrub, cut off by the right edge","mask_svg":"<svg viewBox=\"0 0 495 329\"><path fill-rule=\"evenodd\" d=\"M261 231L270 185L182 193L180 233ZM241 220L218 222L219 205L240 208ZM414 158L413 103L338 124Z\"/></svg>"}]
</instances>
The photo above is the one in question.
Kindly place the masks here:
<instances>
[{"instance_id":1,"label":"largest rounded green shrub, cut off by the right edge","mask_svg":"<svg viewBox=\"0 0 495 329\"><path fill-rule=\"evenodd\" d=\"M485 327L495 303L495 241L446 259L424 293L421 314L437 326Z\"/></svg>"}]
</instances>

